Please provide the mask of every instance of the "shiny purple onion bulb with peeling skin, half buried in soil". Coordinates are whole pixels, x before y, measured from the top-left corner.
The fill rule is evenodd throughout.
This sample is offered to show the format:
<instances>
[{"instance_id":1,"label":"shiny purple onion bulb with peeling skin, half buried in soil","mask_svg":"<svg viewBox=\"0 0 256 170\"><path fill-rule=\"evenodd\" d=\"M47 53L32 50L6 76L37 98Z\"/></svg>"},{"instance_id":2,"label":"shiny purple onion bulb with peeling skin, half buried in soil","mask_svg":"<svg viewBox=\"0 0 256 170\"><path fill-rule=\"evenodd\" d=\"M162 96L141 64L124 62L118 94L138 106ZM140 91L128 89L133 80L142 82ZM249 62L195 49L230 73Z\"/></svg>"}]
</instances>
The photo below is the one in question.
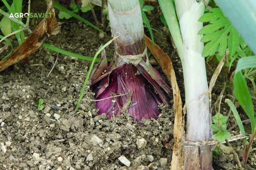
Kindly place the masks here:
<instances>
[{"instance_id":1,"label":"shiny purple onion bulb with peeling skin, half buried in soil","mask_svg":"<svg viewBox=\"0 0 256 170\"><path fill-rule=\"evenodd\" d=\"M111 97L111 93L125 94L133 91L130 107L126 110L133 116L133 120L140 122L143 118L157 119L161 113L158 105L168 104L170 100L169 95L159 86L159 82L153 80L143 68L139 67L138 71L137 66L133 64L124 64L112 70L109 70L110 68L111 64L107 75L92 79L96 100ZM97 69L102 73L104 68ZM159 73L157 75L161 76ZM129 94L98 101L98 114L106 113L108 118L117 116L123 112L122 108L128 99Z\"/></svg>"}]
</instances>

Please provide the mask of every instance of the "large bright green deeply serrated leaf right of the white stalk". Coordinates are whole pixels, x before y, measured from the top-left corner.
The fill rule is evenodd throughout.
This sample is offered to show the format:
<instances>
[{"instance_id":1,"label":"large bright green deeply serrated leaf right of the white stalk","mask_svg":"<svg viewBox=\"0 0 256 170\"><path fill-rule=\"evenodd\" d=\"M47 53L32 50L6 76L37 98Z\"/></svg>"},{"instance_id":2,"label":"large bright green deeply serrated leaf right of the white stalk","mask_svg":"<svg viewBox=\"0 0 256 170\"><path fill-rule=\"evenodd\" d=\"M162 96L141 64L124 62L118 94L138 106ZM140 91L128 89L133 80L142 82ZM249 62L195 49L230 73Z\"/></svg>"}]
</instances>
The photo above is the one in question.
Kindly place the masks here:
<instances>
[{"instance_id":1,"label":"large bright green deeply serrated leaf right of the white stalk","mask_svg":"<svg viewBox=\"0 0 256 170\"><path fill-rule=\"evenodd\" d=\"M204 57L218 52L217 57L220 58L227 47L231 56L236 53L240 44L239 34L219 8L212 8L211 13L204 14L199 21L210 23L198 32L199 35L204 35L201 42L207 42L202 52Z\"/></svg>"}]
</instances>

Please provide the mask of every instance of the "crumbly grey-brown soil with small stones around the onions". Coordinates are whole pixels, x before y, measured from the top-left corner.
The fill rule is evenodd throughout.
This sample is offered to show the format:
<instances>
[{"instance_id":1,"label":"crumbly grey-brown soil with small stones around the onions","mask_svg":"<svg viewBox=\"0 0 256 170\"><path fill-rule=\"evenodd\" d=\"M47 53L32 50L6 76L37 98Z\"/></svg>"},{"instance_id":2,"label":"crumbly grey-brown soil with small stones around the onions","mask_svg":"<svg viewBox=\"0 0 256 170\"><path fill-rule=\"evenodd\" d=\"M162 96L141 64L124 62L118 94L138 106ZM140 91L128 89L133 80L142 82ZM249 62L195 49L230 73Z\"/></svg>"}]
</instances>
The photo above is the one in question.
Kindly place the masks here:
<instances>
[{"instance_id":1,"label":"crumbly grey-brown soil with small stones around the onions","mask_svg":"<svg viewBox=\"0 0 256 170\"><path fill-rule=\"evenodd\" d=\"M32 2L31 12L45 10L44 1ZM155 8L147 15L152 18L156 12ZM39 22L39 19L31 19L30 28L34 29ZM99 32L75 19L61 22L61 33L47 40L47 43L59 48L94 56L99 46L111 39L109 31L102 38ZM155 42L171 56L184 102L181 61L173 52L169 34L161 21L152 21L152 27L158 30L154 32ZM148 35L147 31L145 33ZM15 38L13 41L17 44ZM113 45L106 51L111 58ZM57 56L57 63L47 77ZM94 101L83 100L75 113L89 64L89 61L40 48L29 57L29 63L20 61L0 72L0 169L169 169L174 142L172 103L170 106L160 105L162 114L159 119L143 120L142 125L133 121L129 114L109 120L105 114L98 116ZM214 60L209 64L208 80L217 66ZM159 66L156 68L160 69ZM224 86L224 77L222 73L213 89L213 115L214 103ZM224 100L230 95L232 89L227 88L221 105L224 115L229 112ZM44 101L42 111L37 109L40 98ZM89 86L83 99L94 99ZM242 110L239 111L242 113ZM242 120L247 119L245 114L241 117ZM231 114L228 128L234 124ZM249 130L250 125L246 127ZM232 134L239 134L239 129L234 128ZM231 144L241 159L244 149L242 140ZM255 169L255 160L256 151L252 151L245 169ZM237 167L232 154L216 154L213 164L215 170Z\"/></svg>"}]
</instances>

